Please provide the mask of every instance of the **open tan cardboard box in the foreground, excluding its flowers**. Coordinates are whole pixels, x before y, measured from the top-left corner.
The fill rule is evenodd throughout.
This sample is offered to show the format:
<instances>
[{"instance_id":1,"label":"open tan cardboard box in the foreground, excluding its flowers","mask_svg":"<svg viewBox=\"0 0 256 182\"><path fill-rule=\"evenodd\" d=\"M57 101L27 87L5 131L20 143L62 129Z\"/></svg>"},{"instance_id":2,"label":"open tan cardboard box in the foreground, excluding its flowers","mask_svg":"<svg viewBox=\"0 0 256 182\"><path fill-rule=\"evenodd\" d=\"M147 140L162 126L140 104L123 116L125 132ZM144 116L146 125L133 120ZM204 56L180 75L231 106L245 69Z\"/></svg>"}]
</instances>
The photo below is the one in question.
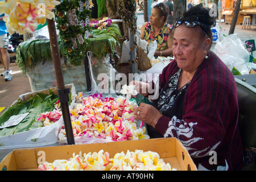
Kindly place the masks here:
<instances>
[{"instance_id":1,"label":"open tan cardboard box in the foreground, excluding its flowers","mask_svg":"<svg viewBox=\"0 0 256 182\"><path fill-rule=\"evenodd\" d=\"M110 158L118 152L135 150L157 152L172 168L182 171L195 171L197 168L193 163L186 148L176 138L157 138L145 140L130 140L109 143L75 144L67 146L41 147L14 150L0 163L0 170L22 171L38 170L38 162L41 164L43 156L45 161L52 163L56 159L69 159L73 153L109 152Z\"/></svg>"}]
</instances>

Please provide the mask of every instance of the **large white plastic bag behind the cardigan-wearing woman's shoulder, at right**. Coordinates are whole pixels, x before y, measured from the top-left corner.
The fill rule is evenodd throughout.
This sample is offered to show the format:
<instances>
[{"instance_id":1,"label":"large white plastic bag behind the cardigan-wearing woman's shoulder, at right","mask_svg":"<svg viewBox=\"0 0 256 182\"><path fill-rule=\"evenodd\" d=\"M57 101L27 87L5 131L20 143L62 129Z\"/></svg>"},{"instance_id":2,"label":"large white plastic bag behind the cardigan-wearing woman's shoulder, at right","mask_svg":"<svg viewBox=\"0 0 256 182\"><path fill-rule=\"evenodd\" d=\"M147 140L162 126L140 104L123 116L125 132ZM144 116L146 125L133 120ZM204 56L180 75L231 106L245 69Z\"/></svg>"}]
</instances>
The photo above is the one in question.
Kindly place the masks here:
<instances>
[{"instance_id":1,"label":"large white plastic bag behind the cardigan-wearing woman's shoulder, at right","mask_svg":"<svg viewBox=\"0 0 256 182\"><path fill-rule=\"evenodd\" d=\"M242 75L249 74L245 63L250 60L250 54L237 34L231 34L221 42L217 42L213 52L227 65L230 71L237 68Z\"/></svg>"}]
</instances>

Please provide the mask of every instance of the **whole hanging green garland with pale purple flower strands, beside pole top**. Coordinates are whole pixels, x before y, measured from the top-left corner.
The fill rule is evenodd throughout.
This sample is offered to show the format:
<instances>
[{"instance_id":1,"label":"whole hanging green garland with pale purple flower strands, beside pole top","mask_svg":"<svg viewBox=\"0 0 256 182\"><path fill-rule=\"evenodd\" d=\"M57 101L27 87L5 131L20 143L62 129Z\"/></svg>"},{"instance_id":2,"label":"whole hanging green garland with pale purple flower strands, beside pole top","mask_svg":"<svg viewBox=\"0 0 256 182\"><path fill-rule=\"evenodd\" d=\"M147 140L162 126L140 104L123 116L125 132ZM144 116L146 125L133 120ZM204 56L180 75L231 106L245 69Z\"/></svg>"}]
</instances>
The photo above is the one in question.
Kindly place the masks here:
<instances>
[{"instance_id":1,"label":"whole hanging green garland with pale purple flower strands, beside pole top","mask_svg":"<svg viewBox=\"0 0 256 182\"><path fill-rule=\"evenodd\" d=\"M55 7L61 46L69 63L74 66L80 65L86 56L92 6L91 0L62 0L61 5Z\"/></svg>"}]
</instances>

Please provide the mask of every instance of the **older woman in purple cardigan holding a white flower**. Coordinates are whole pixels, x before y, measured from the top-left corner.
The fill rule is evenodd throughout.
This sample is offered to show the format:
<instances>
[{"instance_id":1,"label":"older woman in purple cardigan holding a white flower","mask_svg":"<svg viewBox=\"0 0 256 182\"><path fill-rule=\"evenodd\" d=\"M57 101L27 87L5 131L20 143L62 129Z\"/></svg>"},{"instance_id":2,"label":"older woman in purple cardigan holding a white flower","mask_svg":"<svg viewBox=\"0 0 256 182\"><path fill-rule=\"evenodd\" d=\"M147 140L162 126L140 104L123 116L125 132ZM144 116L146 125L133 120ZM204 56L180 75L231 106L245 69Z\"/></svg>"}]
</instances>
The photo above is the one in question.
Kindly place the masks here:
<instances>
[{"instance_id":1,"label":"older woman in purple cardigan holding a white flower","mask_svg":"<svg viewBox=\"0 0 256 182\"><path fill-rule=\"evenodd\" d=\"M149 135L177 137L198 169L239 170L242 142L234 76L209 51L214 17L202 5L191 7L174 23L174 60L159 75L159 97L153 106L135 108L135 119L147 123ZM155 82L156 83L156 82ZM153 82L133 81L147 96ZM146 90L142 93L142 90Z\"/></svg>"}]
</instances>

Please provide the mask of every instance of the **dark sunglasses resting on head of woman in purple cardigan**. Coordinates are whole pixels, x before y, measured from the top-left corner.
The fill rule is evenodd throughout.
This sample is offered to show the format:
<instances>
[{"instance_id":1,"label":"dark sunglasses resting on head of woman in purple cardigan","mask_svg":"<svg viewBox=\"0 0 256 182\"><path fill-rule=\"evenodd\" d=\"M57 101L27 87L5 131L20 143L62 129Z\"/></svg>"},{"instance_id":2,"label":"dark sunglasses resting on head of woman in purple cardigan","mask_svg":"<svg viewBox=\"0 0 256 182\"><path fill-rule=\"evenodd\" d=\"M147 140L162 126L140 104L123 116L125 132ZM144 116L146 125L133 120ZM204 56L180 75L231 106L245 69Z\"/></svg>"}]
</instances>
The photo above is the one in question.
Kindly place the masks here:
<instances>
[{"instance_id":1,"label":"dark sunglasses resting on head of woman in purple cardigan","mask_svg":"<svg viewBox=\"0 0 256 182\"><path fill-rule=\"evenodd\" d=\"M173 24L173 27L176 28L180 26L184 22L186 27L194 28L195 26L199 25L202 30L207 34L207 37L209 37L208 33L206 32L205 28L202 27L201 23L198 21L197 16L187 16L186 18L183 18L183 16L179 16L175 23Z\"/></svg>"}]
</instances>

